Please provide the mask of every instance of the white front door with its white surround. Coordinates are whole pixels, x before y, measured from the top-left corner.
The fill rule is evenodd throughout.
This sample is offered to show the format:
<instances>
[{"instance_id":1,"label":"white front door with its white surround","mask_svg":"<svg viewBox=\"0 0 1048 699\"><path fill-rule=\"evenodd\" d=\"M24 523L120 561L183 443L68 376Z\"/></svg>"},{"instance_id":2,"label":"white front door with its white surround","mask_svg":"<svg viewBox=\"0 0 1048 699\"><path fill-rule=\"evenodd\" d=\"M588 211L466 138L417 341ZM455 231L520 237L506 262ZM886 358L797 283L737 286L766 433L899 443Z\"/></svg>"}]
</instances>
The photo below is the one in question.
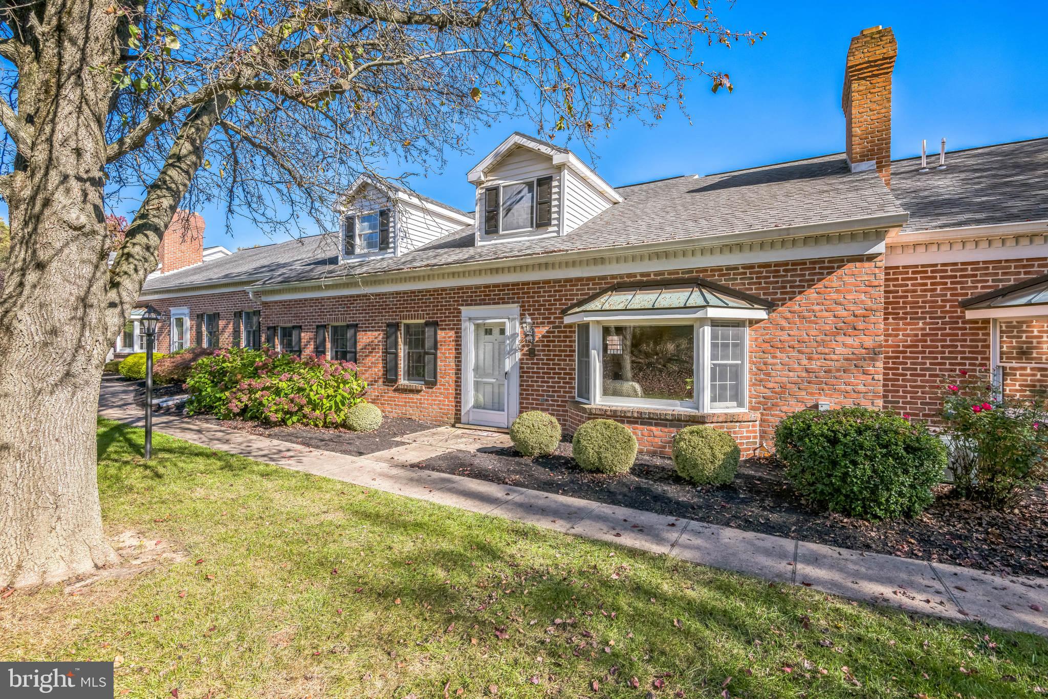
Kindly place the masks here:
<instances>
[{"instance_id":1,"label":"white front door with its white surround","mask_svg":"<svg viewBox=\"0 0 1048 699\"><path fill-rule=\"evenodd\" d=\"M507 428L518 405L516 319L463 320L463 422Z\"/></svg>"}]
</instances>

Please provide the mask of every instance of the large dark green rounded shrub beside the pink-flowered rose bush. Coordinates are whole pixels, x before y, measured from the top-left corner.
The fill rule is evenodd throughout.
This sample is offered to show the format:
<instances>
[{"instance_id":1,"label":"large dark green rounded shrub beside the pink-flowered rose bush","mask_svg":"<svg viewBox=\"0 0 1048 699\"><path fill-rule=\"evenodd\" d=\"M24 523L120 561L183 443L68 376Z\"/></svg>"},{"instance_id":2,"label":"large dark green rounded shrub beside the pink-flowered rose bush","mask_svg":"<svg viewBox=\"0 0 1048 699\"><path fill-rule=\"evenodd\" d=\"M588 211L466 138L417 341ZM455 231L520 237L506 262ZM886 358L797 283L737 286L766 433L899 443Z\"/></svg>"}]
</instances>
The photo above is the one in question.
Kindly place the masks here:
<instances>
[{"instance_id":1,"label":"large dark green rounded shrub beside the pink-flowered rose bush","mask_svg":"<svg viewBox=\"0 0 1048 699\"><path fill-rule=\"evenodd\" d=\"M867 408L794 413L779 423L776 451L805 499L866 519L919 514L946 466L924 425Z\"/></svg>"}]
</instances>

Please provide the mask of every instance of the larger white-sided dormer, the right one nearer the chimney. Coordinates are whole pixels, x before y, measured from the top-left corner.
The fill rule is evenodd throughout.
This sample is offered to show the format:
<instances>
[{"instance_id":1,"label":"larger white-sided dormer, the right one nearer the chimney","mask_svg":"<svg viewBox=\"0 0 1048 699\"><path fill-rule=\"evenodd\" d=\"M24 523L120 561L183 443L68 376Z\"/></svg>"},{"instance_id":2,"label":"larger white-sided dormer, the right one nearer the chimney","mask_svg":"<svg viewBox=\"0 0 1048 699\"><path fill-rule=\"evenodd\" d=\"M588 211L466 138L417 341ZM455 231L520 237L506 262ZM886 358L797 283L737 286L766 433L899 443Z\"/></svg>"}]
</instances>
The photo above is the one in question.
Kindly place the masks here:
<instances>
[{"instance_id":1,"label":"larger white-sided dormer, the right one nearer the chimney","mask_svg":"<svg viewBox=\"0 0 1048 699\"><path fill-rule=\"evenodd\" d=\"M514 133L470 171L478 245L564 236L623 197L566 148Z\"/></svg>"}]
</instances>

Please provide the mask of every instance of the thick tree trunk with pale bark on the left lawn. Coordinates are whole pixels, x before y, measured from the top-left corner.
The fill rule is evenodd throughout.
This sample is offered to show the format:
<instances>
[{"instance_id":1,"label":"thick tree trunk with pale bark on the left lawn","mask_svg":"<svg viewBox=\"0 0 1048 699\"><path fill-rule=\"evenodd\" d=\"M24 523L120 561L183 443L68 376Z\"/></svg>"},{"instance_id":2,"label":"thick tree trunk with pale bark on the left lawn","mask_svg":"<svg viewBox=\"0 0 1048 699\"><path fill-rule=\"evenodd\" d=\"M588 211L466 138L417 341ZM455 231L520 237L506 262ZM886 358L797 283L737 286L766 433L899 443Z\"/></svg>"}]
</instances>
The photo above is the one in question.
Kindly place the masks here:
<instances>
[{"instance_id":1,"label":"thick tree trunk with pale bark on the left lawn","mask_svg":"<svg viewBox=\"0 0 1048 699\"><path fill-rule=\"evenodd\" d=\"M0 586L64 580L116 561L102 527L95 415L107 349L103 124L112 16L49 4L20 66L31 149L8 197L0 296Z\"/></svg>"}]
</instances>

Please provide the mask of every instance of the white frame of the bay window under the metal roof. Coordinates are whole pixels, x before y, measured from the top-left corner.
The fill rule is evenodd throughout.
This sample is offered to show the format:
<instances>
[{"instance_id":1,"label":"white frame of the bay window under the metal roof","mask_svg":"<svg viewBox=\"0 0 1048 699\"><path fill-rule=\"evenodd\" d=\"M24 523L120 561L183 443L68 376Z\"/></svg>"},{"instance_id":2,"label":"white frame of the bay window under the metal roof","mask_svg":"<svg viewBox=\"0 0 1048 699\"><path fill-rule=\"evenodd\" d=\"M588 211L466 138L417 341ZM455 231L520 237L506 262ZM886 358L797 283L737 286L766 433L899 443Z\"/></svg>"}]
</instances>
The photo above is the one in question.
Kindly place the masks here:
<instances>
[{"instance_id":1,"label":"white frame of the bay window under the metal roof","mask_svg":"<svg viewBox=\"0 0 1048 699\"><path fill-rule=\"evenodd\" d=\"M737 310L737 312L739 312ZM764 312L764 311L762 311ZM766 314L765 314L766 318ZM691 316L690 321L693 324L695 332L695 341L693 344L693 362L694 368L692 376L695 379L693 388L694 400L652 400L643 398L623 398L623 397L606 397L604 395L604 367L603 367L603 352L604 352L604 324L625 324L630 325L686 325L686 323L681 323L683 319L667 315L662 318L652 318L634 315L632 318L614 320L614 319L602 319L594 321L587 321L587 325L590 328L590 400L584 400L582 398L575 397L576 400L584 403L594 405L594 406L611 406L617 408L651 408L653 410L679 410L689 411L697 413L740 413L749 410L749 323L752 320L749 318L730 318L730 319L713 319L717 321L727 321L737 322L742 326L742 366L739 372L739 380L742 385L742 390L740 392L740 397L742 398L741 405L739 406L715 406L709 402L709 328L713 320L709 318L698 318ZM577 335L576 343L577 343ZM575 345L575 350L577 351L577 344ZM575 371L577 371L577 364L575 362L575 356L572 355L572 364L575 366ZM576 377L577 378L577 377ZM577 393L577 391L575 391Z\"/></svg>"}]
</instances>

